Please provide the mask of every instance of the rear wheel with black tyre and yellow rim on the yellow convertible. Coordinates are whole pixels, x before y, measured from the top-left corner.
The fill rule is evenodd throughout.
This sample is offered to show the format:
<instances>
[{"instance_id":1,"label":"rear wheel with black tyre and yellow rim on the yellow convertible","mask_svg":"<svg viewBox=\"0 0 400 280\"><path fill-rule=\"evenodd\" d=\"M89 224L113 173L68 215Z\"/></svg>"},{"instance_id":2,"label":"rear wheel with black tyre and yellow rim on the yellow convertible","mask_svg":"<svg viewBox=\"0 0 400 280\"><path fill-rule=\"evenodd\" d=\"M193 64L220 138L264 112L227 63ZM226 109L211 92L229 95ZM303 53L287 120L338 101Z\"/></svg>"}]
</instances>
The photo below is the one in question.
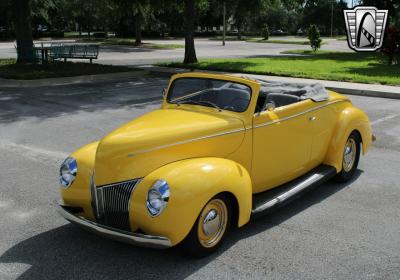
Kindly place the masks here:
<instances>
[{"instance_id":1,"label":"rear wheel with black tyre and yellow rim on the yellow convertible","mask_svg":"<svg viewBox=\"0 0 400 280\"><path fill-rule=\"evenodd\" d=\"M342 170L336 175L336 181L349 181L357 169L360 159L360 137L353 131L343 149Z\"/></svg>"}]
</instances>

